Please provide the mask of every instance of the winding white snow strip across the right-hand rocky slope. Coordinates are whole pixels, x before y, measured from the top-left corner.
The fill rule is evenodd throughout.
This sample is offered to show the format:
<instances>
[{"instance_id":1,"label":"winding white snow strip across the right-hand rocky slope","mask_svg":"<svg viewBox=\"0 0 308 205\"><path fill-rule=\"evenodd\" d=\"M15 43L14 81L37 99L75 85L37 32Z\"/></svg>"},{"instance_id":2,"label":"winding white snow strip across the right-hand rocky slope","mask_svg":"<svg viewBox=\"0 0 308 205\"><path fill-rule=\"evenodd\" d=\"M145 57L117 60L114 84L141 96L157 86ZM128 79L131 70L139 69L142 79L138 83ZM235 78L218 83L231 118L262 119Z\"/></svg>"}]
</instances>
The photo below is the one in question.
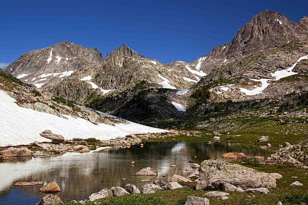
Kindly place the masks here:
<instances>
[{"instance_id":1,"label":"winding white snow strip across the right-hand rocky slope","mask_svg":"<svg viewBox=\"0 0 308 205\"><path fill-rule=\"evenodd\" d=\"M308 59L308 55L300 57L290 68L287 68L287 69L284 69L284 70L277 70L274 73L271 73L271 75L273 77L275 77L275 79L250 79L250 80L261 82L262 86L261 87L254 86L255 89L253 89L253 90L248 90L246 88L240 88L240 91L245 93L248 96L261 94L262 91L265 90L271 84L271 83L268 83L268 81L276 81L276 80L280 80L281 78L297 74L297 72L293 72L292 70L293 70L293 68L295 68L295 66L300 61L302 61L304 59Z\"/></svg>"}]
</instances>

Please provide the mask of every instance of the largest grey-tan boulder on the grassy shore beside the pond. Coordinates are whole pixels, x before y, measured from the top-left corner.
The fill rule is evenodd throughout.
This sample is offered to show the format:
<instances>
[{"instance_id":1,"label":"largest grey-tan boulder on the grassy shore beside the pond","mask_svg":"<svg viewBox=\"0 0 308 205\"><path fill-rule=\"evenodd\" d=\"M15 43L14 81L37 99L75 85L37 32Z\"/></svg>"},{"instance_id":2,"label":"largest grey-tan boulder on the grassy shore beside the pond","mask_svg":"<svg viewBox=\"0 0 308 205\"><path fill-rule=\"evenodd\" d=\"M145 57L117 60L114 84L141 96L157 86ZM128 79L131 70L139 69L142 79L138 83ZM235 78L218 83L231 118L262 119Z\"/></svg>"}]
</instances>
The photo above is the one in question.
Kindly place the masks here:
<instances>
[{"instance_id":1,"label":"largest grey-tan boulder on the grassy shore beside the pond","mask_svg":"<svg viewBox=\"0 0 308 205\"><path fill-rule=\"evenodd\" d=\"M226 183L242 189L276 188L276 179L269 173L221 160L205 160L201 163L197 189L221 189Z\"/></svg>"}]
</instances>

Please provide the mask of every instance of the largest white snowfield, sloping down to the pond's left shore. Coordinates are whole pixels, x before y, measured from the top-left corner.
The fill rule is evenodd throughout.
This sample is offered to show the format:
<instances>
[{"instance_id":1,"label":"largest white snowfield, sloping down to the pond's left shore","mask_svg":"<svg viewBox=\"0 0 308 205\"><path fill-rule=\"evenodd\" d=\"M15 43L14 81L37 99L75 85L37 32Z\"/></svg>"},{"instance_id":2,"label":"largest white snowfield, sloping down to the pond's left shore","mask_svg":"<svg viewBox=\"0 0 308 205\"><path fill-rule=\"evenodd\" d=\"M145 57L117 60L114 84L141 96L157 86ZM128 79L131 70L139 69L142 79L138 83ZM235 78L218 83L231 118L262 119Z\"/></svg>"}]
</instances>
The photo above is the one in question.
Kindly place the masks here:
<instances>
[{"instance_id":1,"label":"largest white snowfield, sloping down to the pond's left shore","mask_svg":"<svg viewBox=\"0 0 308 205\"><path fill-rule=\"evenodd\" d=\"M87 120L73 118L69 115L65 115L68 119L64 119L56 115L20 107L15 103L15 99L2 90L0 90L0 104L0 146L50 141L40 137L39 133L44 130L51 130L55 134L63 135L66 139L75 137L111 139L129 134L168 132L129 121L129 124L111 126L94 125Z\"/></svg>"}]
</instances>

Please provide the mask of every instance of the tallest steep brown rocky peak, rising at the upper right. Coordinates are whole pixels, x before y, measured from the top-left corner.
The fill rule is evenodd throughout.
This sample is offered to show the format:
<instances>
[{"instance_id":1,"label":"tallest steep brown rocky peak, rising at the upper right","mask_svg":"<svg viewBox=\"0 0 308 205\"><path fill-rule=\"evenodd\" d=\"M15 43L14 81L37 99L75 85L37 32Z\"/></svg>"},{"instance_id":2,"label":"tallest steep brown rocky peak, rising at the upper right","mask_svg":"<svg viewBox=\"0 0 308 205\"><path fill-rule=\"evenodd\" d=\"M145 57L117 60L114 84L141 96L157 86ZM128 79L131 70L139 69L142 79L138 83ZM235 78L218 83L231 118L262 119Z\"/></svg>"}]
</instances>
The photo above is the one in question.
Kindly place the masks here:
<instances>
[{"instance_id":1,"label":"tallest steep brown rocky peak, rising at the upper right","mask_svg":"<svg viewBox=\"0 0 308 205\"><path fill-rule=\"evenodd\" d=\"M308 38L307 34L299 24L282 14L265 10L238 31L231 42L227 57L264 51L293 40L305 40Z\"/></svg>"}]
</instances>

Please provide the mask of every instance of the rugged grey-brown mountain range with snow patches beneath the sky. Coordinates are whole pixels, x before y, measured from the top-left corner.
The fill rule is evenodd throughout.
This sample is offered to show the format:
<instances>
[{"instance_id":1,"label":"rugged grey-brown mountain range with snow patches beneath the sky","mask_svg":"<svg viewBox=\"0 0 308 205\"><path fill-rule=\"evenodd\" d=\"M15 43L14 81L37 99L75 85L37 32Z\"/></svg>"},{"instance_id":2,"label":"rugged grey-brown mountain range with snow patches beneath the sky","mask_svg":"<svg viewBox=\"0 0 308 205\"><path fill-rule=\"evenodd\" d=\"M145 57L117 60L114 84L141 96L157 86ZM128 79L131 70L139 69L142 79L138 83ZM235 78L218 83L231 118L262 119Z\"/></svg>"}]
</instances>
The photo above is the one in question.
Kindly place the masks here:
<instances>
[{"instance_id":1,"label":"rugged grey-brown mountain range with snow patches beneath the sky","mask_svg":"<svg viewBox=\"0 0 308 205\"><path fill-rule=\"evenodd\" d=\"M22 55L4 72L42 93L136 122L176 119L185 126L199 116L200 125L214 112L252 104L273 109L305 94L308 17L296 23L265 10L230 43L193 62L162 64L126 45L103 57L96 48L63 41Z\"/></svg>"}]
</instances>

